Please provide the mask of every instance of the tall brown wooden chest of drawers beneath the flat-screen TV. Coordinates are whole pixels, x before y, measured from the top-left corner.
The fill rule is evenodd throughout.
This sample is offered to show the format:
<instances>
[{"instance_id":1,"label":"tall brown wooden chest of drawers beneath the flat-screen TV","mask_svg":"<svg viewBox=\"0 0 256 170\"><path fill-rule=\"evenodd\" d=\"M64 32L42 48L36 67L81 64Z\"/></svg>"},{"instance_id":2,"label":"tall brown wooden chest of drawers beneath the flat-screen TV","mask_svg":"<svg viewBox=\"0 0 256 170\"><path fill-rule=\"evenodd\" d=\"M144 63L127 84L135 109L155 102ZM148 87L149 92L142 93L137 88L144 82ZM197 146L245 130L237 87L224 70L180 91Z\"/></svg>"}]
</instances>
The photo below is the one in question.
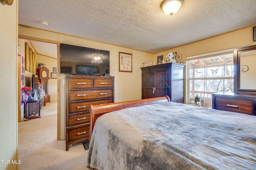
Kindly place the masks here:
<instances>
[{"instance_id":1,"label":"tall brown wooden chest of drawers beneath the flat-screen TV","mask_svg":"<svg viewBox=\"0 0 256 170\"><path fill-rule=\"evenodd\" d=\"M66 150L89 139L90 104L114 103L113 76L66 76Z\"/></svg>"}]
</instances>

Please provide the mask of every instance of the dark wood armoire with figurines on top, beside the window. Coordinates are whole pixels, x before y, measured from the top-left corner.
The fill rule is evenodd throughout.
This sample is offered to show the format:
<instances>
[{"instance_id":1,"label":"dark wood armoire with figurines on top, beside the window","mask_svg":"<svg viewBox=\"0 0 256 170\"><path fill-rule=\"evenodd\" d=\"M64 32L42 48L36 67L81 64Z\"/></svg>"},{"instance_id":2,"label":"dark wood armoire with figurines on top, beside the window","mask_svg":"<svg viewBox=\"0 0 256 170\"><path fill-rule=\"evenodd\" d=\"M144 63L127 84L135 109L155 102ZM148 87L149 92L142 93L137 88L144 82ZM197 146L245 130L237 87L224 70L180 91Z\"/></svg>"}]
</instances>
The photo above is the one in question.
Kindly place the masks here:
<instances>
[{"instance_id":1,"label":"dark wood armoire with figurines on top, beside the window","mask_svg":"<svg viewBox=\"0 0 256 170\"><path fill-rule=\"evenodd\" d=\"M166 63L142 67L142 99L169 96L184 103L185 64Z\"/></svg>"}]
</instances>

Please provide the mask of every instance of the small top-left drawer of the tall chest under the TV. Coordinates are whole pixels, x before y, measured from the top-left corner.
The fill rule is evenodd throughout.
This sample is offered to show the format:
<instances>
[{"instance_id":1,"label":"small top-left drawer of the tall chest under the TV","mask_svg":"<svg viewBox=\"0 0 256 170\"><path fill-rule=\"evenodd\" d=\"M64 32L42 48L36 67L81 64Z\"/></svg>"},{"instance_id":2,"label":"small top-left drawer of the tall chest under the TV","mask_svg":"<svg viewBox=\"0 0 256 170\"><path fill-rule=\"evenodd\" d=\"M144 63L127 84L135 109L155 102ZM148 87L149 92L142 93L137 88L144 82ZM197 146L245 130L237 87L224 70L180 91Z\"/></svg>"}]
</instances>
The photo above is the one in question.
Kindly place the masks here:
<instances>
[{"instance_id":1,"label":"small top-left drawer of the tall chest under the TV","mask_svg":"<svg viewBox=\"0 0 256 170\"><path fill-rule=\"evenodd\" d=\"M92 78L69 78L68 89L92 88Z\"/></svg>"}]
</instances>

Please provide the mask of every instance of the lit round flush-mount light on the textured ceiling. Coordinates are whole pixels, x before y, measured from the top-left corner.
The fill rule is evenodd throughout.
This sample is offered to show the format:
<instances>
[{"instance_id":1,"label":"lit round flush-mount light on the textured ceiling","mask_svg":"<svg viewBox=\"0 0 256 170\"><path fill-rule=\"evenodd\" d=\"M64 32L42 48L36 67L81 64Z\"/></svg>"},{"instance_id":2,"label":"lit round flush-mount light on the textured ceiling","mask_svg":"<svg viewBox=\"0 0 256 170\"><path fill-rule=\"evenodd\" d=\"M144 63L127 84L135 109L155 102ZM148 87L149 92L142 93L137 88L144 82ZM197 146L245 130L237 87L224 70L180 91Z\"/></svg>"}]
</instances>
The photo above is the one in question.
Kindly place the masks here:
<instances>
[{"instance_id":1,"label":"lit round flush-mount light on the textured ceiling","mask_svg":"<svg viewBox=\"0 0 256 170\"><path fill-rule=\"evenodd\" d=\"M178 12L182 4L183 0L164 0L161 4L161 8L165 14L172 16L172 14Z\"/></svg>"}]
</instances>

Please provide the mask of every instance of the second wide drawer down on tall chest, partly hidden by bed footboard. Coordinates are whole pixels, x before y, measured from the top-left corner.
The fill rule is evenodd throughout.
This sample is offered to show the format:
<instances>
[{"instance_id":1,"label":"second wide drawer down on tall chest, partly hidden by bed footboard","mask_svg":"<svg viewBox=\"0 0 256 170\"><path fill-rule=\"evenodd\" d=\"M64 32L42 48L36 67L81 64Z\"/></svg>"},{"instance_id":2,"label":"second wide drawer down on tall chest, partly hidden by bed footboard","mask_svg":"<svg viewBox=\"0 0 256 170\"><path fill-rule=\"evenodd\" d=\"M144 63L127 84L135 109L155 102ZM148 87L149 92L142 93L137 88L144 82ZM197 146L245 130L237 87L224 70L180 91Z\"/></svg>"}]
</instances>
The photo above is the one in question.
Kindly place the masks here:
<instances>
[{"instance_id":1,"label":"second wide drawer down on tall chest, partly hidden by bed footboard","mask_svg":"<svg viewBox=\"0 0 256 170\"><path fill-rule=\"evenodd\" d=\"M107 103L113 103L112 99L70 103L68 104L68 112L77 113L77 112L89 111L90 104L97 105L97 104L107 104Z\"/></svg>"}]
</instances>

